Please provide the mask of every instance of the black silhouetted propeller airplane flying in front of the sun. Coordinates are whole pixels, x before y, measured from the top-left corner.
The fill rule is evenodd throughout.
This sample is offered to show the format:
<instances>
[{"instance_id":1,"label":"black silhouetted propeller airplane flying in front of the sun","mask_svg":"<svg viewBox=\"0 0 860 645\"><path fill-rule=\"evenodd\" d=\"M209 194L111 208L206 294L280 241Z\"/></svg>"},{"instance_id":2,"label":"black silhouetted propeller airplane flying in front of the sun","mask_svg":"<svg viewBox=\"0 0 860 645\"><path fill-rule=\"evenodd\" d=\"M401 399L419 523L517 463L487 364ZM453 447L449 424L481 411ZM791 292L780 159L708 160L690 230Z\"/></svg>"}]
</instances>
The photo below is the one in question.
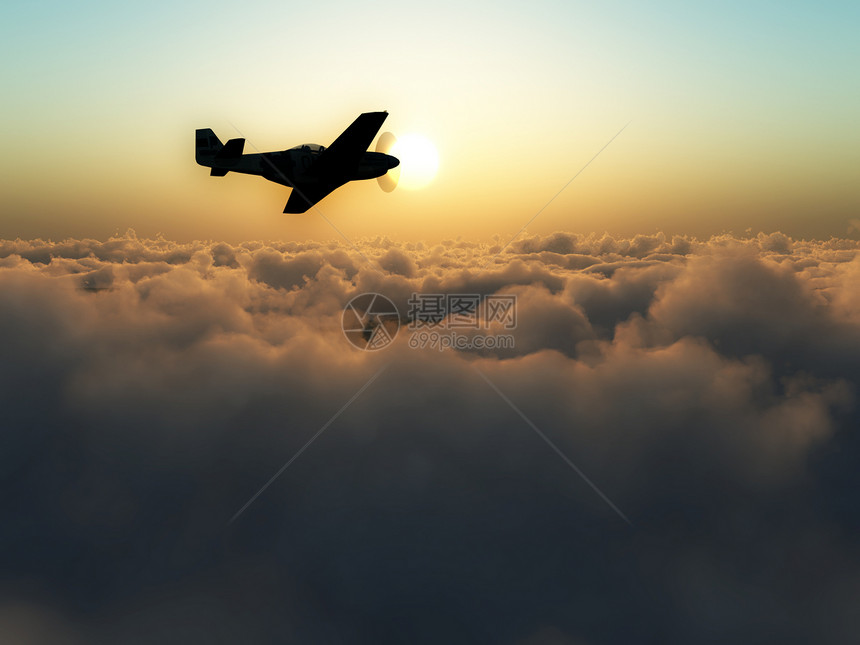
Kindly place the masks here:
<instances>
[{"instance_id":1,"label":"black silhouetted propeller airplane flying in front of the sun","mask_svg":"<svg viewBox=\"0 0 860 645\"><path fill-rule=\"evenodd\" d=\"M359 115L328 148L306 143L289 150L247 155L242 154L245 139L221 143L209 128L198 129L195 159L199 165L212 169L209 173L212 177L238 172L260 175L288 186L293 192L284 212L304 213L345 183L381 178L400 164L396 157L384 152L367 151L387 116L388 112Z\"/></svg>"}]
</instances>

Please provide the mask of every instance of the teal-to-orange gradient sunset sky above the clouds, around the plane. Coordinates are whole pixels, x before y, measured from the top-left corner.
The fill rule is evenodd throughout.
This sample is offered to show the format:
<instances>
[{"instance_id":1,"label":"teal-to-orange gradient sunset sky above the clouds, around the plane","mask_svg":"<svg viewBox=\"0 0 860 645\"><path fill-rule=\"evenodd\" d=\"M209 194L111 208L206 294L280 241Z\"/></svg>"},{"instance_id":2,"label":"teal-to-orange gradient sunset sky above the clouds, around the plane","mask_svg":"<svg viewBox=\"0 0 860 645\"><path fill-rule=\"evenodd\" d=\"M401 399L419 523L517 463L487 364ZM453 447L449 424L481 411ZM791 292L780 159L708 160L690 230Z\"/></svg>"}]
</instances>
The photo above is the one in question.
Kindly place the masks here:
<instances>
[{"instance_id":1,"label":"teal-to-orange gradient sunset sky above the clouds, around the plane","mask_svg":"<svg viewBox=\"0 0 860 645\"><path fill-rule=\"evenodd\" d=\"M193 131L327 145L381 109L439 174L327 198L349 237L510 237L628 122L530 233L856 236L858 28L848 2L7 2L0 237L336 238L210 178Z\"/></svg>"}]
</instances>

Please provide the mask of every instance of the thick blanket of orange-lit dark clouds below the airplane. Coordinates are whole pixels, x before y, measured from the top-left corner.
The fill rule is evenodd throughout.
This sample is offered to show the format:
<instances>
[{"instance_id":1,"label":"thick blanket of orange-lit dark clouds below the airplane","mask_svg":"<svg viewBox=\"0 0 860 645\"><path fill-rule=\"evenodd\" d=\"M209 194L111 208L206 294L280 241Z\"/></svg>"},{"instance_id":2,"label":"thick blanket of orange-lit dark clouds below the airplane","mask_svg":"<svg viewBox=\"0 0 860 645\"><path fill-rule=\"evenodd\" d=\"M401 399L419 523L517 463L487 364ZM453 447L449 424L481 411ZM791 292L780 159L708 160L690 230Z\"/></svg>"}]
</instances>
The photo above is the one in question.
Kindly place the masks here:
<instances>
[{"instance_id":1,"label":"thick blanket of orange-lit dark clouds below the airplane","mask_svg":"<svg viewBox=\"0 0 860 645\"><path fill-rule=\"evenodd\" d=\"M358 247L0 242L3 633L856 640L858 242ZM413 349L414 293L515 345Z\"/></svg>"}]
</instances>

